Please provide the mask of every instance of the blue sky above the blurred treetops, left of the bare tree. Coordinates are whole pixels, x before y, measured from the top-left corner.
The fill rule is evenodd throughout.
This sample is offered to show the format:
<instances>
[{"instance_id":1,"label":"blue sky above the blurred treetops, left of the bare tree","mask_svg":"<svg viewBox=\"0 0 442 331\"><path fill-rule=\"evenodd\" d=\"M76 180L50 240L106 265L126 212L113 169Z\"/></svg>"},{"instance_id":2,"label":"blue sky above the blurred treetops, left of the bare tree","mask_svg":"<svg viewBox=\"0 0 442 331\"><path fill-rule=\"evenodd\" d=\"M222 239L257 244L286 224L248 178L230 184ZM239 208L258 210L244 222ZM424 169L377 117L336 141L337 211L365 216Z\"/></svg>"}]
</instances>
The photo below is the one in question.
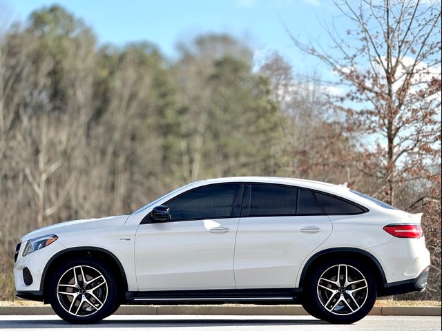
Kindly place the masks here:
<instances>
[{"instance_id":1,"label":"blue sky above the blurred treetops, left of the bare tree","mask_svg":"<svg viewBox=\"0 0 442 331\"><path fill-rule=\"evenodd\" d=\"M151 41L173 58L177 41L227 32L247 41L257 61L276 50L295 70L318 72L324 68L294 48L284 25L296 37L321 39L321 23L338 14L331 0L0 0L0 11L9 23L24 21L52 3L84 19L99 43Z\"/></svg>"}]
</instances>

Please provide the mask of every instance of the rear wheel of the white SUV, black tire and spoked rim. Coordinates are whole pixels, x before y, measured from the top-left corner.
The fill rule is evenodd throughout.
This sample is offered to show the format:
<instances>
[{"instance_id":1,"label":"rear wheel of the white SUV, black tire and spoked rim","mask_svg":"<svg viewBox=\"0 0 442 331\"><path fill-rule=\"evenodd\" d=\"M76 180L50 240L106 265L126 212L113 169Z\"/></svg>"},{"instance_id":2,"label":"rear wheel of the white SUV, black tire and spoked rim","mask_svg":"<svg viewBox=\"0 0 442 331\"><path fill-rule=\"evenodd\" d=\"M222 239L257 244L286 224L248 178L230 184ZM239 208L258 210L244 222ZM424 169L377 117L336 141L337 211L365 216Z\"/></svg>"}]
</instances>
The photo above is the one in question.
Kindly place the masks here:
<instances>
[{"instance_id":1,"label":"rear wheel of the white SUV, black tire and spoked rim","mask_svg":"<svg viewBox=\"0 0 442 331\"><path fill-rule=\"evenodd\" d=\"M349 270L348 274L345 270ZM345 279L338 281L338 274L343 276L344 273ZM348 283L354 283L344 286L346 279ZM302 289L302 307L312 316L329 323L359 321L372 310L374 301L376 281L373 273L355 259L323 261L309 272Z\"/></svg>"}]
</instances>

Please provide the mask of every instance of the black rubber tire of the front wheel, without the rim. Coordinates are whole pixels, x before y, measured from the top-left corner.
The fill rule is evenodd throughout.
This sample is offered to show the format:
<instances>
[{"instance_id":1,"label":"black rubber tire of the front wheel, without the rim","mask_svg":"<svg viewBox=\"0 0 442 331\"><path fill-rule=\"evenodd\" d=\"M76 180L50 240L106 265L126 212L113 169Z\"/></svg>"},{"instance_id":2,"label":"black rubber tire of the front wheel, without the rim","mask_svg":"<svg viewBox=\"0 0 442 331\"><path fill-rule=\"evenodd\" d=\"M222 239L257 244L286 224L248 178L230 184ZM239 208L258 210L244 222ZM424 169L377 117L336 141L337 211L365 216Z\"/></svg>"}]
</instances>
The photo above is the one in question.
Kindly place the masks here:
<instances>
[{"instance_id":1,"label":"black rubber tire of the front wheel, without the rim","mask_svg":"<svg viewBox=\"0 0 442 331\"><path fill-rule=\"evenodd\" d=\"M108 285L108 293L106 297L106 302L103 307L87 317L78 317L73 314L69 314L64 310L64 308L59 303L57 297L57 284L60 277L70 268L73 268L77 265L88 265L92 268L97 269L102 273L104 279L106 279ZM74 324L88 324L88 323L96 323L97 321L101 321L102 319L108 317L110 314L115 312L116 308L119 305L118 302L118 290L117 283L115 281L115 277L111 269L104 263L98 263L94 259L82 258L82 259L72 259L66 262L61 263L56 269L55 272L50 275L50 280L48 282L48 298L50 301L50 305L55 313L67 321L69 323Z\"/></svg>"}]
</instances>

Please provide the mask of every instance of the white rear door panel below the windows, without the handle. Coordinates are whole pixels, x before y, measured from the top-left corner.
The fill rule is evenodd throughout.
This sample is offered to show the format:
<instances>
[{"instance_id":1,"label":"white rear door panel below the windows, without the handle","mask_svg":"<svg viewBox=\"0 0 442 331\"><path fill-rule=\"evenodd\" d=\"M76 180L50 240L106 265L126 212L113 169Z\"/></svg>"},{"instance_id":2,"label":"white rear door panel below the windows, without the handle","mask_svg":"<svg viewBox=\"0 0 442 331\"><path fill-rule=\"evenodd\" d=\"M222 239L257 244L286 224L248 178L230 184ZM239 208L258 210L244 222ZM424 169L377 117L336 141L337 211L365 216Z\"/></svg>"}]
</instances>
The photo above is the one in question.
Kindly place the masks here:
<instances>
[{"instance_id":1,"label":"white rear door panel below the windows, without the handle","mask_svg":"<svg viewBox=\"0 0 442 331\"><path fill-rule=\"evenodd\" d=\"M302 232L316 227L320 231ZM332 232L327 216L244 217L235 249L237 288L294 288L305 256Z\"/></svg>"}]
</instances>

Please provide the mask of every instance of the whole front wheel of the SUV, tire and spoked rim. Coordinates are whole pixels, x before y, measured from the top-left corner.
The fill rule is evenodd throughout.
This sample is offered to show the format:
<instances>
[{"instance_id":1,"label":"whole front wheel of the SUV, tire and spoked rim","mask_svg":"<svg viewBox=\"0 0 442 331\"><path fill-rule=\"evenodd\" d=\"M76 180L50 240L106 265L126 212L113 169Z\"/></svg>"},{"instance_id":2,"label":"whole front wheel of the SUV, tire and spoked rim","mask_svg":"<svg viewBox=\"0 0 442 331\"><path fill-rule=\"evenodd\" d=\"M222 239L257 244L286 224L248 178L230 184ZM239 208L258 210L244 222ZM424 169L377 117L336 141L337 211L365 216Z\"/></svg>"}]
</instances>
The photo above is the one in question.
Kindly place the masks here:
<instances>
[{"instance_id":1,"label":"whole front wheel of the SUV, tire and spoked rim","mask_svg":"<svg viewBox=\"0 0 442 331\"><path fill-rule=\"evenodd\" d=\"M86 283L90 283L83 283L82 272ZM74 274L77 277L74 278ZM117 283L111 269L94 259L81 258L61 263L50 275L46 290L52 309L69 323L97 323L119 307Z\"/></svg>"}]
</instances>

